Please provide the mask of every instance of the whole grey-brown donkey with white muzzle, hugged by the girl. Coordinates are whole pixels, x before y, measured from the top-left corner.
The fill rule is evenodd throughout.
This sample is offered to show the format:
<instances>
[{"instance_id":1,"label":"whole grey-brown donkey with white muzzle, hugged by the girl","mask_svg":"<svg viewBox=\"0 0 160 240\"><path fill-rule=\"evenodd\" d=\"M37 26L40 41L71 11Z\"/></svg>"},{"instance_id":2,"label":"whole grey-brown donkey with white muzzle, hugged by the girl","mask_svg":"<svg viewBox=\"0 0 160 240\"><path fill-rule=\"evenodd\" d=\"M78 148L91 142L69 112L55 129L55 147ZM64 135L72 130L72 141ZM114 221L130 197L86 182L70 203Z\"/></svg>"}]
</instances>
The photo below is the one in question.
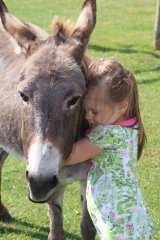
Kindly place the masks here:
<instances>
[{"instance_id":1,"label":"whole grey-brown donkey with white muzzle, hugged by the girl","mask_svg":"<svg viewBox=\"0 0 160 240\"><path fill-rule=\"evenodd\" d=\"M62 223L63 192L81 181L84 239L95 239L85 201L87 163L63 167L81 119L85 78L81 63L96 23L96 0L86 0L75 29L64 39L59 32L25 24L0 0L0 179L9 153L26 162L29 199L49 203L48 239L65 239ZM19 48L17 48L19 46ZM1 202L0 217L11 216Z\"/></svg>"}]
</instances>

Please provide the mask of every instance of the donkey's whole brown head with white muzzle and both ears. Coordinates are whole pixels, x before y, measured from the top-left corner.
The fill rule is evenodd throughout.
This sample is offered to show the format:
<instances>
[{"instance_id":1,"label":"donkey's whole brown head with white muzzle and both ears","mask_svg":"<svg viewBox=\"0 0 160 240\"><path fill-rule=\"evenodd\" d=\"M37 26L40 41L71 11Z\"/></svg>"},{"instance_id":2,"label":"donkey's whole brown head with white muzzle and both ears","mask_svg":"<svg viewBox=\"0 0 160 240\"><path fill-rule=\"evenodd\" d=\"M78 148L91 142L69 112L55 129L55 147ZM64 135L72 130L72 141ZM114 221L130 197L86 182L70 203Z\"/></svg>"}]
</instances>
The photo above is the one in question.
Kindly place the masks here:
<instances>
[{"instance_id":1,"label":"donkey's whole brown head with white muzzle and both ears","mask_svg":"<svg viewBox=\"0 0 160 240\"><path fill-rule=\"evenodd\" d=\"M96 22L96 0L86 0L74 31L40 40L7 12L0 0L4 28L26 56L18 92L24 104L22 142L27 160L29 198L45 202L70 154L85 92L81 61Z\"/></svg>"}]
</instances>

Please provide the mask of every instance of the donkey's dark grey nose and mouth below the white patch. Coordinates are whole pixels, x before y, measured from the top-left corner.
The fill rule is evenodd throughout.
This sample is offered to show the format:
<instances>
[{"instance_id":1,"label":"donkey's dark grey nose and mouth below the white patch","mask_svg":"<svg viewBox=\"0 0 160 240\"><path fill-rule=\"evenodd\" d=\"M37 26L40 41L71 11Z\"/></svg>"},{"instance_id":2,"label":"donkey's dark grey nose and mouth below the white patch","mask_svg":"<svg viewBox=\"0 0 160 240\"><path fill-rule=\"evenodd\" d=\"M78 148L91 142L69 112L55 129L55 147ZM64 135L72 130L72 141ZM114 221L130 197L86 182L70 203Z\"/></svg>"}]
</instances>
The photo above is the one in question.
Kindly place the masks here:
<instances>
[{"instance_id":1,"label":"donkey's dark grey nose and mouth below the white patch","mask_svg":"<svg viewBox=\"0 0 160 240\"><path fill-rule=\"evenodd\" d=\"M26 178L29 186L29 199L30 201L37 203L47 202L52 196L58 183L56 175L48 178L35 177L26 171Z\"/></svg>"}]
</instances>

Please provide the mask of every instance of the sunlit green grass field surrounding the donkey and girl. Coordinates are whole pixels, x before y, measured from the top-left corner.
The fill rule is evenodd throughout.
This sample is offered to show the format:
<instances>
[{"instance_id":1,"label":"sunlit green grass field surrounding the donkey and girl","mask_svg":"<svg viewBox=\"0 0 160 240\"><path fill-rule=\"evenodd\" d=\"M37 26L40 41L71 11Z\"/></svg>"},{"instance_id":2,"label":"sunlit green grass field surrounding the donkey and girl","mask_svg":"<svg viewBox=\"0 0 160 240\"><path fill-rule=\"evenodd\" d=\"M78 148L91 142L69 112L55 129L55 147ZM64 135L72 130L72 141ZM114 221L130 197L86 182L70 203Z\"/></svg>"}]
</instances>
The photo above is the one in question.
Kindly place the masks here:
<instances>
[{"instance_id":1,"label":"sunlit green grass field surrounding the donkey and girl","mask_svg":"<svg viewBox=\"0 0 160 240\"><path fill-rule=\"evenodd\" d=\"M52 17L75 21L81 0L6 0L11 12L51 32ZM148 212L160 239L160 52L153 48L156 0L97 0L97 25L89 44L92 58L119 59L136 76L142 117L148 137L137 176ZM49 232L47 205L27 199L24 163L9 158L3 169L3 202L15 221L0 223L1 240L44 240ZM67 240L81 239L79 184L68 187L64 200Z\"/></svg>"}]
</instances>

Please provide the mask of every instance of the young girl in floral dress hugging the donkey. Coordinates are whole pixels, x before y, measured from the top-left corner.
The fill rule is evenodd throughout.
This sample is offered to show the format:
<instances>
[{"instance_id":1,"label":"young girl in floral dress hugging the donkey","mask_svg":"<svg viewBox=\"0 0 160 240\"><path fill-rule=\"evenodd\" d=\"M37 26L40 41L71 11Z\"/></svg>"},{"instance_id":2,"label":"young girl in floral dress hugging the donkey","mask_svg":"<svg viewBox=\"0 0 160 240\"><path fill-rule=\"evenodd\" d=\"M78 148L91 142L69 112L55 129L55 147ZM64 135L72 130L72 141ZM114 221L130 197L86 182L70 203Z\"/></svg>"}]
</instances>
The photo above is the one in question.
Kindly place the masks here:
<instances>
[{"instance_id":1,"label":"young girl in floral dress hugging the donkey","mask_svg":"<svg viewBox=\"0 0 160 240\"><path fill-rule=\"evenodd\" d=\"M101 59L88 70L84 98L91 133L76 142L66 164L92 158L87 206L102 240L149 240L153 233L138 182L137 158L146 141L134 76Z\"/></svg>"}]
</instances>

